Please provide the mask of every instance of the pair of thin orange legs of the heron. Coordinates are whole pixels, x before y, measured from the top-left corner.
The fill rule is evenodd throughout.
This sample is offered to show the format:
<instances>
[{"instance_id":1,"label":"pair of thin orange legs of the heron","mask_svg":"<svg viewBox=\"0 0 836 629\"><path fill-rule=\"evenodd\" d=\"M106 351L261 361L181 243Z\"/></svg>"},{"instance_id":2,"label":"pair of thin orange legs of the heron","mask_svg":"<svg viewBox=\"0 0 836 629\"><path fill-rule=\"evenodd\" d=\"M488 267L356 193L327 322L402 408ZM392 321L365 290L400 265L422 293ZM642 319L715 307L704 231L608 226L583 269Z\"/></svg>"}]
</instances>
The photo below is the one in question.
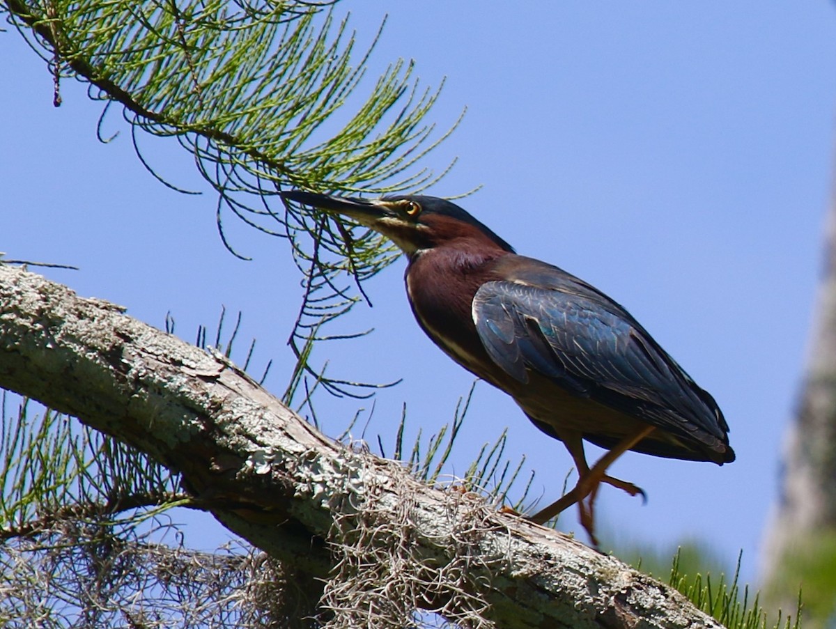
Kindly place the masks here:
<instances>
[{"instance_id":1,"label":"pair of thin orange legs of the heron","mask_svg":"<svg viewBox=\"0 0 836 629\"><path fill-rule=\"evenodd\" d=\"M578 509L580 512L580 522L589 534L589 539L592 540L593 545L597 546L598 541L595 539L594 533L594 502L595 497L598 495L600 483L607 483L613 487L624 489L624 491L630 493L632 496L635 496L638 493L641 493L642 495L645 494L633 483L627 483L626 481L619 480L619 478L608 476L606 474L607 468L614 463L615 459L630 450L631 447L635 446L636 443L647 437L654 430L655 427L646 426L640 429L640 431L635 432L635 434L624 437L624 439L616 444L616 446L608 453L599 458L598 462L595 463L592 468L589 468L589 465L586 463L584 444L580 435L576 433L567 435L564 443L566 444L569 453L572 455L575 467L578 468L578 484L575 485L571 491L566 493L563 498L549 505L537 514L534 514L533 517L529 519L537 524L544 524L564 509L567 509L575 503L579 503Z\"/></svg>"}]
</instances>

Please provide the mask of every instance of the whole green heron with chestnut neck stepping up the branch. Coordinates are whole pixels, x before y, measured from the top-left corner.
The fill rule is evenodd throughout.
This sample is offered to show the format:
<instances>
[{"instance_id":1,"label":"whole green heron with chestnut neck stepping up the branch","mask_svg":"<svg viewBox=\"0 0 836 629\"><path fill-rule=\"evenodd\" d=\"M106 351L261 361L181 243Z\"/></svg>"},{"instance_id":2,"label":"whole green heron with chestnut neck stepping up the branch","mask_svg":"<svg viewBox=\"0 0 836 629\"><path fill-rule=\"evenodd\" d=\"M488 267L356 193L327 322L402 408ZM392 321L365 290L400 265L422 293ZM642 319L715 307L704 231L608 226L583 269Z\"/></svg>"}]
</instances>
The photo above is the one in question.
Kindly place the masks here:
<instances>
[{"instance_id":1,"label":"whole green heron with chestnut neck stepping up the branch","mask_svg":"<svg viewBox=\"0 0 836 629\"><path fill-rule=\"evenodd\" d=\"M578 483L534 522L578 503L581 524L596 544L599 484L644 495L606 473L628 450L720 465L734 460L714 398L627 310L563 269L517 255L455 203L298 191L283 197L343 214L390 238L409 258L406 294L426 334L565 444ZM591 468L584 439L609 450Z\"/></svg>"}]
</instances>

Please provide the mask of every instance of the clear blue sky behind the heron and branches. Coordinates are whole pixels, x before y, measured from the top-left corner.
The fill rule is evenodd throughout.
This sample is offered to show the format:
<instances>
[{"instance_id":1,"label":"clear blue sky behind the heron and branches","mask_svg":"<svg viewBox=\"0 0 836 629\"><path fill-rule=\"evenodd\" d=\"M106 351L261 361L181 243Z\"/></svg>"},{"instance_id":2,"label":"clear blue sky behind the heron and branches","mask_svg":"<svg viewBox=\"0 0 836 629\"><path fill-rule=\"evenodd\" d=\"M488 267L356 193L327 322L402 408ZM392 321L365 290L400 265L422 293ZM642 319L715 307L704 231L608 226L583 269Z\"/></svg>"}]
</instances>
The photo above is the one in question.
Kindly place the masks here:
<instances>
[{"instance_id":1,"label":"clear blue sky behind the heron and branches","mask_svg":"<svg viewBox=\"0 0 836 629\"><path fill-rule=\"evenodd\" d=\"M458 163L430 192L461 205L519 253L542 258L624 304L701 386L732 427L737 462L723 468L630 454L614 475L638 499L604 488L602 521L624 540L709 542L744 573L777 496L782 437L802 376L831 193L836 7L755 2L344 2L361 41L388 11L370 74L415 59L422 84L446 87L434 113L460 128L431 164ZM523 7L523 10L520 10ZM0 251L70 263L49 277L125 305L193 340L222 304L242 310L256 360L273 358L278 394L298 276L283 242L231 228L245 263L224 248L211 193L186 197L140 166L119 116L99 143L100 107L84 87L52 82L17 33L0 33ZM172 181L206 190L175 143L145 138ZM335 375L404 379L382 391L367 429L390 443L406 404L410 430L449 421L472 376L418 329L403 261L365 290L374 307L348 325L370 339L327 348ZM341 432L356 401L321 401ZM370 408L371 402L362 406ZM537 470L535 493L558 497L571 460L513 402L480 384L452 471L509 427L512 458ZM374 439L372 439L374 440ZM589 448L590 458L599 451ZM573 517L565 522L573 528Z\"/></svg>"}]
</instances>

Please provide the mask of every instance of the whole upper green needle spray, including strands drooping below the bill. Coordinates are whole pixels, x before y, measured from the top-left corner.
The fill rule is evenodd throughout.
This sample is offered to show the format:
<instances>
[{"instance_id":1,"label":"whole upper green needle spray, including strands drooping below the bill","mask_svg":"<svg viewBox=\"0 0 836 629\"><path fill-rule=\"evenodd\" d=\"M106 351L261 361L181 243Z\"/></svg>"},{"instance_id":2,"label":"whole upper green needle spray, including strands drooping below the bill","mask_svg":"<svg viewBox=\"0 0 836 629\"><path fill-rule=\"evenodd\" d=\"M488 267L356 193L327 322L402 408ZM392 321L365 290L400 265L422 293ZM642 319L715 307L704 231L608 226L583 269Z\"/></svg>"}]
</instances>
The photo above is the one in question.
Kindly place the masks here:
<instances>
[{"instance_id":1,"label":"whole upper green needle spray, including strands drooping below the bill","mask_svg":"<svg viewBox=\"0 0 836 629\"><path fill-rule=\"evenodd\" d=\"M390 243L314 210L285 205L288 187L381 195L415 192L440 176L424 158L446 138L427 122L439 89L421 87L396 60L363 81L377 36L357 50L333 2L4 0L8 22L48 64L55 104L62 79L89 84L105 117L120 110L137 156L146 138L175 138L217 192L217 228L237 219L285 238L301 274L302 304L289 336L297 365L284 399L314 391L364 396L377 385L326 376L310 357L324 326L359 299L352 288L397 256ZM382 28L382 23L380 25ZM351 113L349 113L349 111ZM341 336L341 338L344 335ZM313 409L311 409L313 413Z\"/></svg>"}]
</instances>

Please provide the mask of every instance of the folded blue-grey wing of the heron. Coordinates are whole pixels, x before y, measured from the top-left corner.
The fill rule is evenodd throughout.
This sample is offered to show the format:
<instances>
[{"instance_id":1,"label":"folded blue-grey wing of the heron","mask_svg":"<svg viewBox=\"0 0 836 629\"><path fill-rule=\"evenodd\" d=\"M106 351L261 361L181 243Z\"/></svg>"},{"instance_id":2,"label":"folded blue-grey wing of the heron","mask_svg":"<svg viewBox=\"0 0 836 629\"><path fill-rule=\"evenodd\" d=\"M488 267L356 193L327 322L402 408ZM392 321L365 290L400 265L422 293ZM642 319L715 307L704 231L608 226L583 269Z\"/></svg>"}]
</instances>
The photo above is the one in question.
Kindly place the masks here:
<instances>
[{"instance_id":1,"label":"folded blue-grey wing of the heron","mask_svg":"<svg viewBox=\"0 0 836 629\"><path fill-rule=\"evenodd\" d=\"M516 257L515 257L516 258ZM528 371L574 395L682 436L727 443L716 402L619 304L544 263L534 274L482 284L477 333L492 361L517 379ZM545 278L547 281L543 281Z\"/></svg>"}]
</instances>

